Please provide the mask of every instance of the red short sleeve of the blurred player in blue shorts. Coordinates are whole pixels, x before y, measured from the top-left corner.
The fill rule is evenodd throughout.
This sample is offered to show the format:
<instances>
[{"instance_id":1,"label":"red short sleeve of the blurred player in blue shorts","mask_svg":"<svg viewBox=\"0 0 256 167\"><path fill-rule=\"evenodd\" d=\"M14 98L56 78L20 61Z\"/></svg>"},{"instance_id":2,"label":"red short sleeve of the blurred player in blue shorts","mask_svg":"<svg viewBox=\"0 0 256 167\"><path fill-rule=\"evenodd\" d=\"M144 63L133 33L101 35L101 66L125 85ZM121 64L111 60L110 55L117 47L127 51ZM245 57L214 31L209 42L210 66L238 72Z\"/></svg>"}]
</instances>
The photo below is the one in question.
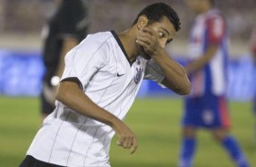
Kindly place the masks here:
<instances>
[{"instance_id":1,"label":"red short sleeve of the blurred player in blue shorts","mask_svg":"<svg viewBox=\"0 0 256 167\"><path fill-rule=\"evenodd\" d=\"M221 15L214 15L207 19L207 35L210 44L221 44L225 35L225 21Z\"/></svg>"}]
</instances>

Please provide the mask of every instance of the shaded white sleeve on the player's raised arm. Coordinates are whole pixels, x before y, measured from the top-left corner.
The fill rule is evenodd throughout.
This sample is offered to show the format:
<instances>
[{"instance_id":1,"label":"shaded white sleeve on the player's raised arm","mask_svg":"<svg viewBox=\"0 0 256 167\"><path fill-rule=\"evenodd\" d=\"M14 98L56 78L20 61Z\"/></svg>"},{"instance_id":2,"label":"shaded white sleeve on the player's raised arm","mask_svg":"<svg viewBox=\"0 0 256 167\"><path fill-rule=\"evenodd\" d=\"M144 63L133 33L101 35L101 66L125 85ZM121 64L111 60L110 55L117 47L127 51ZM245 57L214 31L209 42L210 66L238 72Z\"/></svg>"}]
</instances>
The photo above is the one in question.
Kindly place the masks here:
<instances>
[{"instance_id":1,"label":"shaded white sleeve on the player's raised arm","mask_svg":"<svg viewBox=\"0 0 256 167\"><path fill-rule=\"evenodd\" d=\"M152 80L156 83L162 83L164 79L161 68L153 60L148 61L146 64L144 79Z\"/></svg>"}]
</instances>

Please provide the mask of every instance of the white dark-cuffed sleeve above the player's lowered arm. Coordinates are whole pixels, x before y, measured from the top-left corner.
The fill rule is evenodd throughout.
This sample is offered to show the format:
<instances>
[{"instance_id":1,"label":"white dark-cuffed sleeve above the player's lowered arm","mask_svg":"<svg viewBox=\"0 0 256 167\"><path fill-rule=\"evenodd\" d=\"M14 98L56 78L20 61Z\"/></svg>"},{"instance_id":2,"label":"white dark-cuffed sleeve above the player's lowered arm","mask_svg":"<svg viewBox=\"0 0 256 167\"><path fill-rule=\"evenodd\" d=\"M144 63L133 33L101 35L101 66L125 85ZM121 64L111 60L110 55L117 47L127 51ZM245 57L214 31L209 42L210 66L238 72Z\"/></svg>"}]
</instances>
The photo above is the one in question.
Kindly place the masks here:
<instances>
[{"instance_id":1,"label":"white dark-cuffed sleeve above the player's lowered arm","mask_svg":"<svg viewBox=\"0 0 256 167\"><path fill-rule=\"evenodd\" d=\"M94 75L105 65L108 56L105 42L102 44L95 43L90 40L90 36L87 36L81 44L66 54L64 74L61 78L61 81L68 78L77 78L83 86L83 90L93 80Z\"/></svg>"}]
</instances>

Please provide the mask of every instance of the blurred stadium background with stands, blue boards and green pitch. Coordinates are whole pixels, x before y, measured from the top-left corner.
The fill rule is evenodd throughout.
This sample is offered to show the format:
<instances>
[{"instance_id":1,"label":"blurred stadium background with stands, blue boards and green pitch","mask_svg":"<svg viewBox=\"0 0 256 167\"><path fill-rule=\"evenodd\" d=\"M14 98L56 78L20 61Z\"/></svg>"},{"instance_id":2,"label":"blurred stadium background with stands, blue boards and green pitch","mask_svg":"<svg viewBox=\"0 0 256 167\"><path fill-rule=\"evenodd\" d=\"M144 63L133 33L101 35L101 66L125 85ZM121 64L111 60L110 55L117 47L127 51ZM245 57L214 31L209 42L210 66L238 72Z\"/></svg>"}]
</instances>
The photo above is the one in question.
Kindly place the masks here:
<instances>
[{"instance_id":1,"label":"blurred stadium background with stands, blue boards and green pitch","mask_svg":"<svg viewBox=\"0 0 256 167\"><path fill-rule=\"evenodd\" d=\"M89 0L90 33L114 29L123 31L144 5L155 0ZM182 30L176 35L168 52L185 62L187 38L192 25L192 13L183 0L162 0L171 4L182 19ZM25 156L25 151L40 126L39 102L42 62L41 30L52 14L56 0L0 0L0 166L13 167ZM229 97L233 133L256 166L253 143L251 98L255 94L255 68L250 56L250 35L256 23L255 0L217 0L227 18L231 35ZM179 120L182 101L178 96L151 82L144 82L142 97L134 105L127 122L137 133L139 152L128 152L112 146L113 166L176 166L180 146ZM163 98L164 97L164 98ZM144 115L147 115L146 117ZM164 120L164 122L160 120ZM207 133L198 148L195 166L229 167L231 161ZM222 162L219 160L224 159Z\"/></svg>"}]
</instances>

